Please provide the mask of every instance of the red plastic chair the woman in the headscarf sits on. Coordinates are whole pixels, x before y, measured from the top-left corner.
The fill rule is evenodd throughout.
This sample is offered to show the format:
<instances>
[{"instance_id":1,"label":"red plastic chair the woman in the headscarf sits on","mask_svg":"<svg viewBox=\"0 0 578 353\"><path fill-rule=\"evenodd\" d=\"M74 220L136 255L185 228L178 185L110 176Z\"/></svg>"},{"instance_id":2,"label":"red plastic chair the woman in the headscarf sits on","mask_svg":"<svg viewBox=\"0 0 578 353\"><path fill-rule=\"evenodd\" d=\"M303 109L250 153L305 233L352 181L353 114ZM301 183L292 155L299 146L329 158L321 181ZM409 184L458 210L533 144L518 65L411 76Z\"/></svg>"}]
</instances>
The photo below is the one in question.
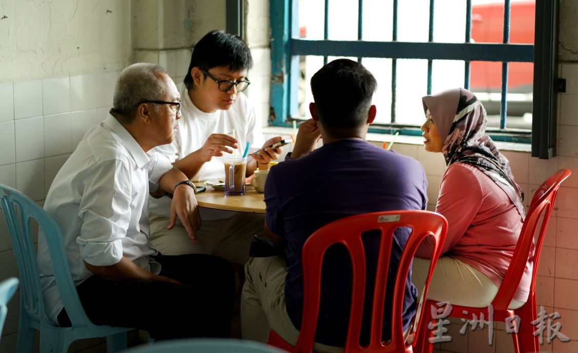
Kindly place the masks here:
<instances>
[{"instance_id":1,"label":"red plastic chair the woman in the headscarf sits on","mask_svg":"<svg viewBox=\"0 0 578 353\"><path fill-rule=\"evenodd\" d=\"M538 263L540 260L540 251L542 250L542 243L544 241L544 235L546 234L546 228L550 221L550 213L554 207L554 201L556 200L556 195L558 193L558 188L560 184L572 174L571 171L567 169L562 169L555 172L550 176L545 182L540 185L536 193L532 198L528 214L524 220L524 225L520 231L520 238L516 244L516 249L514 250L514 255L512 257L512 262L506 271L504 280L502 281L502 286L500 286L498 293L496 294L494 301L492 301L492 306L494 307L494 321L505 321L508 317L513 317L517 315L520 317L520 328L518 333L512 333L512 339L514 341L514 351L516 353L528 353L528 352L539 352L539 337L533 336L533 332L536 331L535 326L531 324L533 320L538 318L536 311L536 274L538 273ZM540 225L540 220L542 224L538 233L538 237L534 239L536 234L536 229ZM531 255L531 249L533 241L536 243L536 247L533 254L533 269L532 269L532 281L530 284L530 292L528 296L528 301L519 309L508 309L514 294L516 294L518 286L520 286L520 281L522 275L524 274L524 268L528 257ZM429 308L436 307L436 301L426 301L425 317L420 327L420 334L418 339L414 344L414 351L416 352L432 352L433 344L428 341L429 337L432 337L433 333L431 330L427 329L428 322L432 322L431 310ZM488 316L487 307L469 307L452 305L453 309L449 314L450 317L472 319L472 314L480 318L480 314L484 315L485 320ZM463 314L466 311L468 314Z\"/></svg>"}]
</instances>

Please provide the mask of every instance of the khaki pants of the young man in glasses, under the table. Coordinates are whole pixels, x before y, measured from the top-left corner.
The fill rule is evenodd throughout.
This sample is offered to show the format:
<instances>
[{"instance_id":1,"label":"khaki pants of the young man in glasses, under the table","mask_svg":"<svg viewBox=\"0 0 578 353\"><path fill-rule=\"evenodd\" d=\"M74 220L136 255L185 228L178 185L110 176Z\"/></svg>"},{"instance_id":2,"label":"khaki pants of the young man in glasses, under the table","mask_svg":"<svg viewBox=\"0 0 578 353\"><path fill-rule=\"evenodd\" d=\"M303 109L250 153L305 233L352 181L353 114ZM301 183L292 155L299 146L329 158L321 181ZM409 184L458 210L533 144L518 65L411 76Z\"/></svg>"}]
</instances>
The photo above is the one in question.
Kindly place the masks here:
<instances>
[{"instance_id":1,"label":"khaki pants of the young man in glasses, under the table","mask_svg":"<svg viewBox=\"0 0 578 353\"><path fill-rule=\"evenodd\" d=\"M249 259L253 235L263 235L264 224L264 214L249 212L237 212L227 219L203 220L197 244L193 244L178 217L175 227L167 230L169 219L151 213L150 241L163 255L209 254L244 264Z\"/></svg>"}]
</instances>

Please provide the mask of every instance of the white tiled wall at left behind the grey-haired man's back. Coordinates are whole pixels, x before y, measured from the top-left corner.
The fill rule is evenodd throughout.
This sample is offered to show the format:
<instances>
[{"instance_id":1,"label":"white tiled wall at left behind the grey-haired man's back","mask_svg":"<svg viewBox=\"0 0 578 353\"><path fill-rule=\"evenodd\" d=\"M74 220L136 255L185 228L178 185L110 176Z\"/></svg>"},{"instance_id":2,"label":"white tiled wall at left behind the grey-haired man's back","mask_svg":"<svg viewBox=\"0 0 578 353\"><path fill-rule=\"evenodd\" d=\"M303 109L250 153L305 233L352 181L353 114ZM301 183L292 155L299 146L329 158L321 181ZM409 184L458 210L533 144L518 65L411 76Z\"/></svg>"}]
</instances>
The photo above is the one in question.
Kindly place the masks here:
<instances>
[{"instance_id":1,"label":"white tiled wall at left behind the grey-haired man's back","mask_svg":"<svg viewBox=\"0 0 578 353\"><path fill-rule=\"evenodd\" d=\"M55 175L53 160L62 162L104 119L117 77L98 72L1 82L0 183L43 200Z\"/></svg>"}]
</instances>

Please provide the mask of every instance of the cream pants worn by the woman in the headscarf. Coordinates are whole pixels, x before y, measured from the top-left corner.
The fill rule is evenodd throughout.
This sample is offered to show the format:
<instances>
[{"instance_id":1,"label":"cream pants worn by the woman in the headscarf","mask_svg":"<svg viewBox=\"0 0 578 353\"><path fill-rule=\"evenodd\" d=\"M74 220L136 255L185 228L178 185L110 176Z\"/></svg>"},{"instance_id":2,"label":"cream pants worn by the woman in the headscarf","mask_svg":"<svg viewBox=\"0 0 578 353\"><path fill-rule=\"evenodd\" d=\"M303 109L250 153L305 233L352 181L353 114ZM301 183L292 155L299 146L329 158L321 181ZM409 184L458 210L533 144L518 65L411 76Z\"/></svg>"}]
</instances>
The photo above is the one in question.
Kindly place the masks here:
<instances>
[{"instance_id":1,"label":"cream pants worn by the woman in the headscarf","mask_svg":"<svg viewBox=\"0 0 578 353\"><path fill-rule=\"evenodd\" d=\"M417 288L418 295L424 290L428 268L428 259L413 259L412 282ZM498 289L488 276L472 266L455 258L442 256L433 269L427 299L450 302L453 305L487 307L498 294ZM510 309L518 309L523 305L523 302L512 299Z\"/></svg>"}]
</instances>

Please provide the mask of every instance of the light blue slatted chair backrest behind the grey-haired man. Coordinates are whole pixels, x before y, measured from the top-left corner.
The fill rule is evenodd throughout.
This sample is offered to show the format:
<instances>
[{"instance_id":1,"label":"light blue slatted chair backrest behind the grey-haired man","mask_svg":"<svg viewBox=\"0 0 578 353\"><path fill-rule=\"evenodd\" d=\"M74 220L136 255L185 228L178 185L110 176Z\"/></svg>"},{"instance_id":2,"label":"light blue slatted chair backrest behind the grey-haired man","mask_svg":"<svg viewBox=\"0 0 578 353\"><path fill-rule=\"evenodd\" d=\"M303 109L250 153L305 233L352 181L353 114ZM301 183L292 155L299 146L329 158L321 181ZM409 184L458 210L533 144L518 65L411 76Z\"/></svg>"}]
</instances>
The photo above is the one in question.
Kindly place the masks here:
<instances>
[{"instance_id":1,"label":"light blue slatted chair backrest behind the grey-haired man","mask_svg":"<svg viewBox=\"0 0 578 353\"><path fill-rule=\"evenodd\" d=\"M94 326L88 320L72 281L62 233L54 219L39 205L18 190L0 184L0 205L8 223L10 239L16 254L20 288L20 315L22 309L32 320L49 322L44 310L42 289L36 261L36 251L32 234L31 220L34 219L44 236L49 248L50 260L54 271L54 278L58 286L62 303L66 313L76 327Z\"/></svg>"}]
</instances>

